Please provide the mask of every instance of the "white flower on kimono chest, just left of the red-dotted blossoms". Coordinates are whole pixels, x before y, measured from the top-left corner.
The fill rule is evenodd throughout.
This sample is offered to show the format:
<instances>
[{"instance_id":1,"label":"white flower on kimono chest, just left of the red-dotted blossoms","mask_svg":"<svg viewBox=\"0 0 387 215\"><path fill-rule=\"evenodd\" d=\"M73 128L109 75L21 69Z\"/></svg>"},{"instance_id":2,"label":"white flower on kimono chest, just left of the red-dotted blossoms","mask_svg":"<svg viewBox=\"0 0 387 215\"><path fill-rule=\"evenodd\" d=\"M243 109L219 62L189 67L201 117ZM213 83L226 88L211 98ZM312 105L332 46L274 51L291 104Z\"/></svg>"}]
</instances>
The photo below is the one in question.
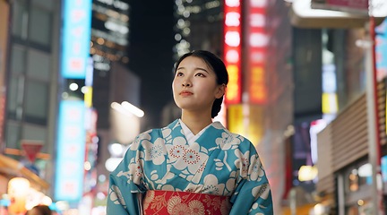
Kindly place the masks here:
<instances>
[{"instance_id":1,"label":"white flower on kimono chest, just left of the red-dotted blossoms","mask_svg":"<svg viewBox=\"0 0 387 215\"><path fill-rule=\"evenodd\" d=\"M142 147L145 150L145 160L151 160L155 165L165 161L166 150L162 138L156 139L153 143L145 140L142 142Z\"/></svg>"}]
</instances>

